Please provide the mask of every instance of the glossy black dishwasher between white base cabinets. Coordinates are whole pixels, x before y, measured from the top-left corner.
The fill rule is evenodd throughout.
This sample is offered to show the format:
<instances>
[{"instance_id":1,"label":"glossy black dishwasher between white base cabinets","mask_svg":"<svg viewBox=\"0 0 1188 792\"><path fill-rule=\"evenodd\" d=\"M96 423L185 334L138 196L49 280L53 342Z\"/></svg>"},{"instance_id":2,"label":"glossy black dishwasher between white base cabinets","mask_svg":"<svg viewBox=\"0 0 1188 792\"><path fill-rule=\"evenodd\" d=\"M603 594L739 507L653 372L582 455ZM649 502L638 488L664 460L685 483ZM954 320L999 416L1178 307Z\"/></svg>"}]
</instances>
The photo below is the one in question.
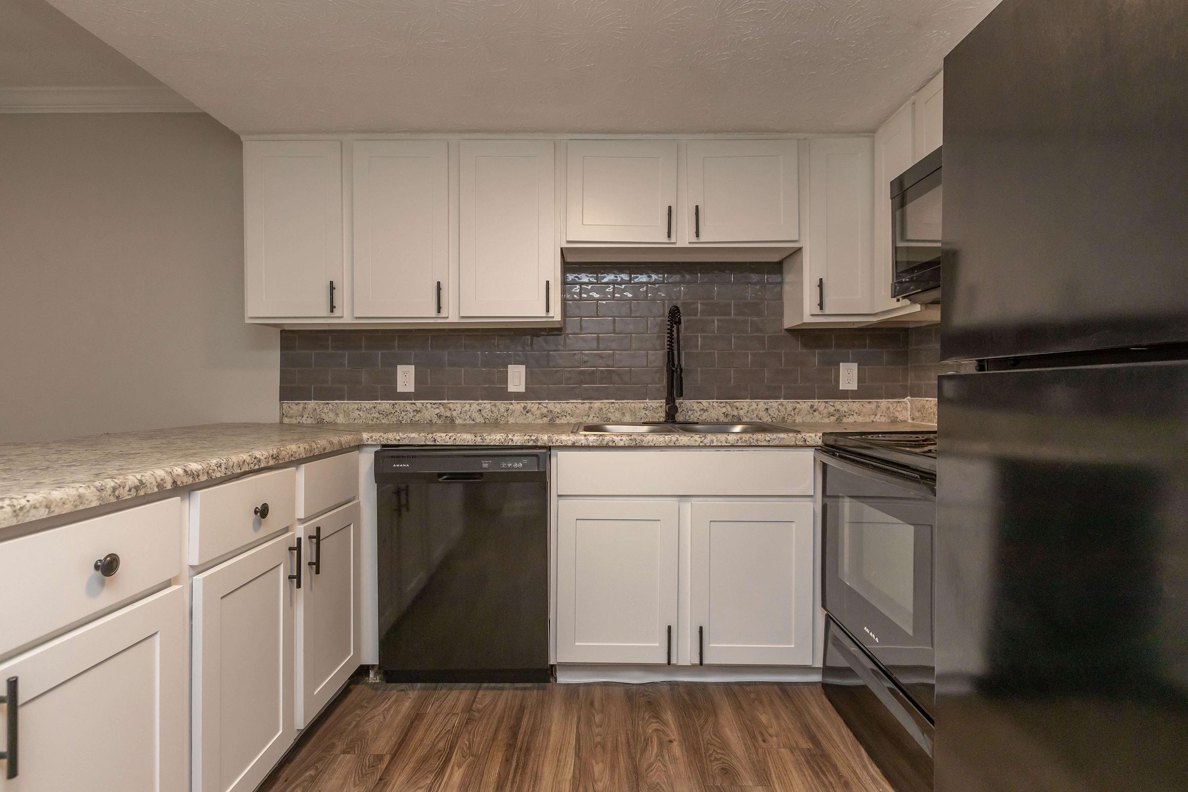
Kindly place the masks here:
<instances>
[{"instance_id":1,"label":"glossy black dishwasher between white base cabinets","mask_svg":"<svg viewBox=\"0 0 1188 792\"><path fill-rule=\"evenodd\" d=\"M548 682L548 451L383 448L375 484L385 678Z\"/></svg>"}]
</instances>

